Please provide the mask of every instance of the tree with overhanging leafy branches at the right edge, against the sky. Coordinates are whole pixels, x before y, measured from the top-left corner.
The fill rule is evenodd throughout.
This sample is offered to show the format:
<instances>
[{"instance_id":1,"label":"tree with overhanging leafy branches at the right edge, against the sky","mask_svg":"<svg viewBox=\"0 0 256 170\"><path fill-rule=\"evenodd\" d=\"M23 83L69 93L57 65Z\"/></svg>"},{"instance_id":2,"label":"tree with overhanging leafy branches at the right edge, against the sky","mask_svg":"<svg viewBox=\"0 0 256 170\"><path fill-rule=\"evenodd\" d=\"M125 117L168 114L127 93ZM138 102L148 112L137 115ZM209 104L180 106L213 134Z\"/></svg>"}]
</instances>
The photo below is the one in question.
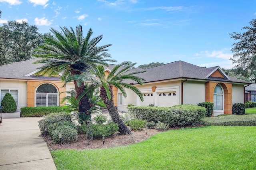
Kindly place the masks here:
<instances>
[{"instance_id":1,"label":"tree with overhanging leafy branches at the right edge, against the sky","mask_svg":"<svg viewBox=\"0 0 256 170\"><path fill-rule=\"evenodd\" d=\"M248 71L251 77L251 81L255 82L255 70L256 70L256 19L252 19L250 26L245 26L242 30L246 30L244 33L233 32L230 38L238 40L234 43L234 47L231 51L234 53L233 58L230 58L233 63L237 65L234 68Z\"/></svg>"}]
</instances>

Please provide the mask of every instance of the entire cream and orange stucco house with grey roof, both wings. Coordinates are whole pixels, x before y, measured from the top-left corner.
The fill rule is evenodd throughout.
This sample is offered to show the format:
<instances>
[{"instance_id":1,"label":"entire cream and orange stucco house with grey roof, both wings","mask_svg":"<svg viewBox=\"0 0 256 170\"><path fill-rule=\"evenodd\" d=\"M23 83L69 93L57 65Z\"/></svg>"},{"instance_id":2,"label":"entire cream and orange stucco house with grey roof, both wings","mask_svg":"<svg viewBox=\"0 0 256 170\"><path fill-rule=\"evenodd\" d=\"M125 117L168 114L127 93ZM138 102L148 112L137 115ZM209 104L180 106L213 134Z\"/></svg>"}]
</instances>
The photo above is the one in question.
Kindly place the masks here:
<instances>
[{"instance_id":1,"label":"entire cream and orange stucco house with grey roof, both wings","mask_svg":"<svg viewBox=\"0 0 256 170\"><path fill-rule=\"evenodd\" d=\"M5 93L11 93L18 110L21 107L61 106L60 101L72 91L73 83L66 87L60 80L61 75L52 77L35 76L40 64L33 64L37 59L0 66L0 99ZM115 65L105 69L108 74ZM140 68L136 68L141 70ZM136 70L135 69L135 70ZM227 76L219 66L204 68L175 61L158 67L146 69L140 73L143 86L130 81L143 93L144 101L131 90L126 89L127 97L113 87L114 103L120 111L127 111L127 106L174 106L180 104L197 105L203 101L214 103L214 116L231 114L233 103L244 103L244 85L249 82Z\"/></svg>"}]
</instances>

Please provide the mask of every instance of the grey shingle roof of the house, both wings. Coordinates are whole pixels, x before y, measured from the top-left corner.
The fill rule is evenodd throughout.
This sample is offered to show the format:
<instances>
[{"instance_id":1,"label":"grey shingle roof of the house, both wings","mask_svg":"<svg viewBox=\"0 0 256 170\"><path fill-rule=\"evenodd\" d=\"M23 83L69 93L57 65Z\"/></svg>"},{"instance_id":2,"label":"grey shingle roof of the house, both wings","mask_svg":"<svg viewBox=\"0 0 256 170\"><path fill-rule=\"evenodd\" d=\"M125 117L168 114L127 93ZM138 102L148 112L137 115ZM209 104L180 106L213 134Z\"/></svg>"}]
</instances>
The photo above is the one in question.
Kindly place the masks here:
<instances>
[{"instance_id":1,"label":"grey shingle roof of the house, both wings","mask_svg":"<svg viewBox=\"0 0 256 170\"><path fill-rule=\"evenodd\" d=\"M8 65L0 66L0 79L36 79L36 80L60 80L60 77L45 77L45 76L38 76L35 77L33 75L26 77L36 71L38 67L41 67L42 64L33 64L38 58L30 59L26 61L21 61L18 63L12 63ZM112 70L116 65L109 64L108 68ZM160 65L157 67L152 67L146 69L145 73L140 73L138 76L144 78L147 82L154 82L154 81L162 81L162 80L170 80L170 79L178 79L178 78L188 78L188 79L202 79L202 80L212 80L212 81L227 81L227 82L236 82L236 83L249 83L247 81L243 81L240 79L236 79L234 77L230 77L230 80L227 78L219 78L219 77L206 77L209 75L216 67L204 68L199 67L190 63L186 63L184 61L175 61L172 63L167 63L164 65ZM131 69L130 71L142 71L144 69L135 68ZM130 82L131 83L131 82ZM135 83L135 82L133 82Z\"/></svg>"}]
</instances>

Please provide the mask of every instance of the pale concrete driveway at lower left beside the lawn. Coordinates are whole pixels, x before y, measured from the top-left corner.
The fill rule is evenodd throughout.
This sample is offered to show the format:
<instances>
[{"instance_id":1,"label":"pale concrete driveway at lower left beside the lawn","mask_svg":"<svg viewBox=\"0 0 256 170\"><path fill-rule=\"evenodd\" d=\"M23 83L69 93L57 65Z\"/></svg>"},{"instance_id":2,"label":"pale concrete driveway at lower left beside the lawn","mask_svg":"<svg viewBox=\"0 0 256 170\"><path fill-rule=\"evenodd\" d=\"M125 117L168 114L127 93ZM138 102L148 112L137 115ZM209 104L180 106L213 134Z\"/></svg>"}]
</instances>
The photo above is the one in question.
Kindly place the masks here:
<instances>
[{"instance_id":1,"label":"pale concrete driveway at lower left beside the lawn","mask_svg":"<svg viewBox=\"0 0 256 170\"><path fill-rule=\"evenodd\" d=\"M56 170L40 136L42 117L3 119L0 123L0 170Z\"/></svg>"}]
</instances>

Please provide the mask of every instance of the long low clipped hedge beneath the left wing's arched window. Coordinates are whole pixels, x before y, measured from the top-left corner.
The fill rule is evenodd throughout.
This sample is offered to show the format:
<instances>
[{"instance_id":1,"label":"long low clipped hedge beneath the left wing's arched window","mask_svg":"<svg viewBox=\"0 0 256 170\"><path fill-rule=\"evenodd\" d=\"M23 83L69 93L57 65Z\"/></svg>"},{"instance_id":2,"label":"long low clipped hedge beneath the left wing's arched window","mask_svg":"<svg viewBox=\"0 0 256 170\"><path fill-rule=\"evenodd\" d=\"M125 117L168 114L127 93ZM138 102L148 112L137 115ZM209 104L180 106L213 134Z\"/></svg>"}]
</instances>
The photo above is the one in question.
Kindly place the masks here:
<instances>
[{"instance_id":1,"label":"long low clipped hedge beneath the left wing's arched window","mask_svg":"<svg viewBox=\"0 0 256 170\"><path fill-rule=\"evenodd\" d=\"M23 107L20 109L22 117L38 117L45 116L50 113L60 113L65 110L61 106L49 106L49 107Z\"/></svg>"}]
</instances>

